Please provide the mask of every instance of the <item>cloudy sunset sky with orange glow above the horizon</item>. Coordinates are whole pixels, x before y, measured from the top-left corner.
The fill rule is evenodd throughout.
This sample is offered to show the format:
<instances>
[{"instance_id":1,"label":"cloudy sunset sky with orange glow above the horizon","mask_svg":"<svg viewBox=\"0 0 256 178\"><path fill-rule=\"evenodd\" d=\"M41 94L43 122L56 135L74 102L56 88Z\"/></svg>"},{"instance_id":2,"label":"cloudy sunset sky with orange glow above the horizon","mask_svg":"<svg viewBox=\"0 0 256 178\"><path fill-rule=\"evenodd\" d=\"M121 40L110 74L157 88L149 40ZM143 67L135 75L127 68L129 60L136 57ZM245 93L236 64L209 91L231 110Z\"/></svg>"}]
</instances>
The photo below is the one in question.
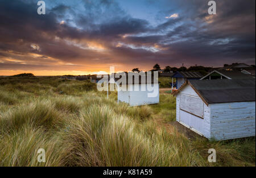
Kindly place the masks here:
<instances>
[{"instance_id":1,"label":"cloudy sunset sky with orange glow above the horizon","mask_svg":"<svg viewBox=\"0 0 256 178\"><path fill-rule=\"evenodd\" d=\"M255 0L0 0L0 76L255 64Z\"/></svg>"}]
</instances>

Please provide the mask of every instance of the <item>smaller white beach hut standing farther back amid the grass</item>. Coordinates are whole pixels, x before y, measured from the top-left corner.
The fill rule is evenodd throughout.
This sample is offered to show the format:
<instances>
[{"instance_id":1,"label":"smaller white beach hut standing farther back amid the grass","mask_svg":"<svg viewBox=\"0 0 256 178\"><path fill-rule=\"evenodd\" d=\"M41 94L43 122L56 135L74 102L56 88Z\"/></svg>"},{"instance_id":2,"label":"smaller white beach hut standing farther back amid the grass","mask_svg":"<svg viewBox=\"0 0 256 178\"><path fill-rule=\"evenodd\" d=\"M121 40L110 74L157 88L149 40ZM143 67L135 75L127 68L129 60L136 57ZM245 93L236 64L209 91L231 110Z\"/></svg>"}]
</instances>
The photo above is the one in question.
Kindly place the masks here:
<instances>
[{"instance_id":1,"label":"smaller white beach hut standing farther back amid the grass","mask_svg":"<svg viewBox=\"0 0 256 178\"><path fill-rule=\"evenodd\" d=\"M151 85L151 89L148 89L147 85ZM120 88L126 88L121 90ZM159 103L159 82L154 83L154 78L151 81L143 82L141 77L139 80L133 78L132 81L127 80L125 83L121 83L118 86L118 102L125 102L130 106L149 105Z\"/></svg>"}]
</instances>

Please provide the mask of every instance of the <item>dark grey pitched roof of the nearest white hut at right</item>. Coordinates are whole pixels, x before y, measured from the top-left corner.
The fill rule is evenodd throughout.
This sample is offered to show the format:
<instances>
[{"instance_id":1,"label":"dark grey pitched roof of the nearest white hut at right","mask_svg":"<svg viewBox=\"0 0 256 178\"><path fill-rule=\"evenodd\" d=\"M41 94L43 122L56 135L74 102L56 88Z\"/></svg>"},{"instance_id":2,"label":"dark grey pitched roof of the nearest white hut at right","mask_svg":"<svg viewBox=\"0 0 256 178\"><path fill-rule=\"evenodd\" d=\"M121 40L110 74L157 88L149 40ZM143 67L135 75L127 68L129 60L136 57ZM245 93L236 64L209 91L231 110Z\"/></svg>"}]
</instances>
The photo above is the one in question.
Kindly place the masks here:
<instances>
[{"instance_id":1,"label":"dark grey pitched roof of the nearest white hut at right","mask_svg":"<svg viewBox=\"0 0 256 178\"><path fill-rule=\"evenodd\" d=\"M255 79L189 80L207 104L255 101Z\"/></svg>"}]
</instances>

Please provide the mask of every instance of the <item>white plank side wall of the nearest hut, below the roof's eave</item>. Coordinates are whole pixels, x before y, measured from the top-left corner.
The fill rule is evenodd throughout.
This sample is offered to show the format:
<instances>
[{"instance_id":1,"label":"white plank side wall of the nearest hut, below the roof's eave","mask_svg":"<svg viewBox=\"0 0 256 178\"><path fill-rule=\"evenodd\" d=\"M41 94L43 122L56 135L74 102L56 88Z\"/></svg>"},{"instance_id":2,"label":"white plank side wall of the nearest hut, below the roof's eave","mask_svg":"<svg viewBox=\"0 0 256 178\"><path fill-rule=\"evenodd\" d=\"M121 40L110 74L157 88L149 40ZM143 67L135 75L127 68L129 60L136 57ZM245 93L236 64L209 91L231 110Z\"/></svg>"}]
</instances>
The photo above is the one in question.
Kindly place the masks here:
<instances>
[{"instance_id":1,"label":"white plank side wall of the nearest hut, below the roof's eave","mask_svg":"<svg viewBox=\"0 0 256 178\"><path fill-rule=\"evenodd\" d=\"M211 138L255 136L255 102L210 104L209 107Z\"/></svg>"}]
</instances>

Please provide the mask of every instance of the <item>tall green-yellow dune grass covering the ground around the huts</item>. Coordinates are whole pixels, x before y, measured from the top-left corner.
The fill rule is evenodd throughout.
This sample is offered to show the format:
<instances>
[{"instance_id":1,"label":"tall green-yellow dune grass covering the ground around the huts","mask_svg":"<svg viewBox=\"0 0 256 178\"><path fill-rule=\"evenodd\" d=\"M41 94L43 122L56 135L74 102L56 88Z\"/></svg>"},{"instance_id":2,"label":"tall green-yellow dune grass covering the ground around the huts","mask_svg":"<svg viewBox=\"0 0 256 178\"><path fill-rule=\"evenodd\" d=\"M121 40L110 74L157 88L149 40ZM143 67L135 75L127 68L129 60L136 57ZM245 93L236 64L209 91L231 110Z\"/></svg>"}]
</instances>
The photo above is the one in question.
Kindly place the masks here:
<instances>
[{"instance_id":1,"label":"tall green-yellow dune grass covering the ground around the huts","mask_svg":"<svg viewBox=\"0 0 256 178\"><path fill-rule=\"evenodd\" d=\"M0 84L0 166L255 166L255 137L191 141L159 125L156 118L174 121L170 94L160 94L158 105L129 107L88 81L10 77ZM217 163L207 162L209 148Z\"/></svg>"}]
</instances>

